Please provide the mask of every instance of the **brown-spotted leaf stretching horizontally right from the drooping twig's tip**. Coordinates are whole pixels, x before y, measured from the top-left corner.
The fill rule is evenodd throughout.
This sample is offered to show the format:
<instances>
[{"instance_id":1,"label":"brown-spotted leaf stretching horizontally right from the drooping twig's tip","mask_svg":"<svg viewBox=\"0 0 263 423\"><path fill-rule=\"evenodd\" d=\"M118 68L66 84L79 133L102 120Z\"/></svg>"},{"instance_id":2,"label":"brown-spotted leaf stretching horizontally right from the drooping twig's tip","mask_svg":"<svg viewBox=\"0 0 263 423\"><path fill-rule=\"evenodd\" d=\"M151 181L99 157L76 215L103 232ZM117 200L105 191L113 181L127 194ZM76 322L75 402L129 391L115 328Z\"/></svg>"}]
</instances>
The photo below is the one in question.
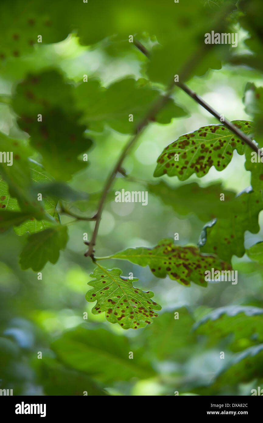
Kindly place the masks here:
<instances>
[{"instance_id":1,"label":"brown-spotted leaf stretching horizontally right from the drooping twig's tip","mask_svg":"<svg viewBox=\"0 0 263 423\"><path fill-rule=\"evenodd\" d=\"M111 256L129 260L140 266L149 266L156 277L166 277L177 280L184 286L194 282L200 286L207 286L205 270L231 269L231 266L219 260L214 254L200 254L197 247L192 245L175 245L172 239L161 239L156 247L128 248Z\"/></svg>"}]
</instances>

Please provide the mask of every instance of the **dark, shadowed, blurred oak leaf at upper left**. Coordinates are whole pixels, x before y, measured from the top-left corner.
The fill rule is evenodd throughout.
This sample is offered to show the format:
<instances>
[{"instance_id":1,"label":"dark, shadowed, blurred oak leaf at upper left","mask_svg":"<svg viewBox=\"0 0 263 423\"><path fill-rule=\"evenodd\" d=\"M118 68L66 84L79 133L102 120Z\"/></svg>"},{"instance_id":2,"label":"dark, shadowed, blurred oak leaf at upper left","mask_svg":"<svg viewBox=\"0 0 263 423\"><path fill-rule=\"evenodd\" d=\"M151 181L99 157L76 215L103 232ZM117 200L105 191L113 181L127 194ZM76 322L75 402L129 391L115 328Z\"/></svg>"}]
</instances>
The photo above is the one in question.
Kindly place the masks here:
<instances>
[{"instance_id":1,"label":"dark, shadowed, blurred oak leaf at upper left","mask_svg":"<svg viewBox=\"0 0 263 423\"><path fill-rule=\"evenodd\" d=\"M84 135L86 127L78 123L81 112L73 91L57 71L43 71L17 85L12 103L18 124L30 135L30 145L42 155L45 169L63 181L85 168L88 162L78 156L92 145Z\"/></svg>"}]
</instances>

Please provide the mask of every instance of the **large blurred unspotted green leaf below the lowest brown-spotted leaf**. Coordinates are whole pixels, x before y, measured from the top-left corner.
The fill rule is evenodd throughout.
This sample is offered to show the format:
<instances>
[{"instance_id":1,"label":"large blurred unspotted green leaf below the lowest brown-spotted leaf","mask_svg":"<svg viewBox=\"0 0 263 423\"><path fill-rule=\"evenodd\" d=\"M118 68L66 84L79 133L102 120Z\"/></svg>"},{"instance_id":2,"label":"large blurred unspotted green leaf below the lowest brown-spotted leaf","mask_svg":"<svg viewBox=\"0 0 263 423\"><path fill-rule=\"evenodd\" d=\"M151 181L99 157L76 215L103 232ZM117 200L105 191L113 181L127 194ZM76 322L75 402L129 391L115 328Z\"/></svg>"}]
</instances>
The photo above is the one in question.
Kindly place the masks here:
<instances>
[{"instance_id":1,"label":"large blurred unspotted green leaf below the lowest brown-spotted leaf","mask_svg":"<svg viewBox=\"0 0 263 423\"><path fill-rule=\"evenodd\" d=\"M155 374L149 362L143 360L143 350L136 354L132 350L134 358L130 360L129 339L105 329L77 327L54 341L51 348L63 363L105 383L115 381L116 374L120 380L147 379Z\"/></svg>"}]
</instances>

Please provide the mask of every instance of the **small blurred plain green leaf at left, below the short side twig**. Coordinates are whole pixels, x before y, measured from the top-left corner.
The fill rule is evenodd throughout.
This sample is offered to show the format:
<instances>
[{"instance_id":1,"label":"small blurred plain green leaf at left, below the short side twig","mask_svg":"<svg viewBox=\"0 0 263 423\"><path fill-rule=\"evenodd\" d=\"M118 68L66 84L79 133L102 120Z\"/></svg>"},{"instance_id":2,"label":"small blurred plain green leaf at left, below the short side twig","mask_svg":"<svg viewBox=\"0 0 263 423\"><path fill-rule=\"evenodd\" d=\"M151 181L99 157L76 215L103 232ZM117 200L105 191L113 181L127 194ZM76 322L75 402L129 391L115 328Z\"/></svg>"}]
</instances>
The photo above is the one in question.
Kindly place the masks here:
<instances>
[{"instance_id":1,"label":"small blurred plain green leaf at left, below the short side twig","mask_svg":"<svg viewBox=\"0 0 263 423\"><path fill-rule=\"evenodd\" d=\"M20 254L19 263L23 270L31 267L34 272L41 270L47 261L55 264L60 250L68 242L68 228L58 225L28 236L27 244Z\"/></svg>"}]
</instances>

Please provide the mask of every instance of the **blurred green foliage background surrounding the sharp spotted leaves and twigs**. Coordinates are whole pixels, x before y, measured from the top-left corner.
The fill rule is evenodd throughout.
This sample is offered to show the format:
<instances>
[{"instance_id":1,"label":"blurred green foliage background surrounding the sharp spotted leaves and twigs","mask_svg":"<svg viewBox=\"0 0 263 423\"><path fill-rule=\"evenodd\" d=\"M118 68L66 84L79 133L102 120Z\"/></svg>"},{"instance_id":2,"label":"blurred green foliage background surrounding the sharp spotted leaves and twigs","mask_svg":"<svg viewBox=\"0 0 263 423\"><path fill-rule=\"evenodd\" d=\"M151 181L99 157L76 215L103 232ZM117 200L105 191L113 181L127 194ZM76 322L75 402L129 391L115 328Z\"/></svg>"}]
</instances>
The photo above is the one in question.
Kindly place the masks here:
<instances>
[{"instance_id":1,"label":"blurred green foliage background surrounding the sharp spotted leaves and twigs","mask_svg":"<svg viewBox=\"0 0 263 423\"><path fill-rule=\"evenodd\" d=\"M151 324L123 330L104 313L93 314L85 294L96 290L90 273L100 275L83 244L107 175L175 74L243 130L253 121L262 146L262 15L260 0L1 2L0 150L14 155L12 166L0 163L0 389L231 396L262 386L263 171L249 148L242 145L239 155L232 145L220 173L210 163L200 178L186 163L185 177L157 175L168 144L218 124L179 87L119 169L95 246L109 269L124 258L116 252L126 251L122 275L132 273L138 296L146 291L149 299L153 291L162 306ZM204 44L211 30L238 33L238 47ZM131 35L149 58L129 42ZM122 189L147 190L147 207L115 203ZM217 221L202 232L211 219ZM178 233L183 266L185 244L200 255L201 232L201 253L231 264L236 285L187 288L165 269L156 277L150 255L128 257L127 251L149 253L159 240L173 242ZM192 256L187 260L192 264ZM127 287L120 275L113 275L119 288Z\"/></svg>"}]
</instances>

